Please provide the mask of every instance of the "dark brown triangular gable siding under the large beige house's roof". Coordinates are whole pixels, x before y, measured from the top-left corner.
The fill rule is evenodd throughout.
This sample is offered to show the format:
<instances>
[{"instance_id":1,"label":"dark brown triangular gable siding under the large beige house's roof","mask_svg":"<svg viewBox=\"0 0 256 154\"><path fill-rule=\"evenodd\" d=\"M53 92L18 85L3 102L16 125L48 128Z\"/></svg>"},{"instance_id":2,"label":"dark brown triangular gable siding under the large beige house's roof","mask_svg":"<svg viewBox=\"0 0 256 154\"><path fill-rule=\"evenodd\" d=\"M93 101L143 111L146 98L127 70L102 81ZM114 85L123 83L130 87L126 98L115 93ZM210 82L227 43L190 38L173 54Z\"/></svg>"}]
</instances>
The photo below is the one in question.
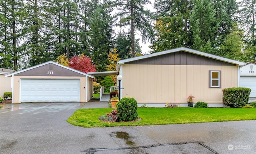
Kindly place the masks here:
<instances>
[{"instance_id":1,"label":"dark brown triangular gable siding under the large beige house's roof","mask_svg":"<svg viewBox=\"0 0 256 154\"><path fill-rule=\"evenodd\" d=\"M142 65L211 65L211 66L236 66L228 62L192 54L189 52L178 51L160 56L144 58L126 62L125 64Z\"/></svg>"}]
</instances>

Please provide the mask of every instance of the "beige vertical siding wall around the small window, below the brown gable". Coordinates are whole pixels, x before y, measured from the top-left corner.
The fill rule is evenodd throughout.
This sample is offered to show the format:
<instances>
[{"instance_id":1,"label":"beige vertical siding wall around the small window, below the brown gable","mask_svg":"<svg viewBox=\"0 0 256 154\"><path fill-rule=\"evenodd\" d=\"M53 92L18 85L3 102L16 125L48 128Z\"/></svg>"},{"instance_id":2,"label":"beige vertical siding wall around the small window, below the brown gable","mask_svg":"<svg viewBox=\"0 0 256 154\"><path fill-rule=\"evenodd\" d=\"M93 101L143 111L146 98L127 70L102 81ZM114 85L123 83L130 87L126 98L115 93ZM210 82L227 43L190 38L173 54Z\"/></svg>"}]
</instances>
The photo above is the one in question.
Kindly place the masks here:
<instances>
[{"instance_id":1,"label":"beige vertical siding wall around the small window, below the brown gable","mask_svg":"<svg viewBox=\"0 0 256 154\"><path fill-rule=\"evenodd\" d=\"M222 89L237 87L237 66L123 64L123 96L134 97L138 103L186 103L188 95L194 102L222 104ZM209 70L222 72L221 89L209 88Z\"/></svg>"}]
</instances>

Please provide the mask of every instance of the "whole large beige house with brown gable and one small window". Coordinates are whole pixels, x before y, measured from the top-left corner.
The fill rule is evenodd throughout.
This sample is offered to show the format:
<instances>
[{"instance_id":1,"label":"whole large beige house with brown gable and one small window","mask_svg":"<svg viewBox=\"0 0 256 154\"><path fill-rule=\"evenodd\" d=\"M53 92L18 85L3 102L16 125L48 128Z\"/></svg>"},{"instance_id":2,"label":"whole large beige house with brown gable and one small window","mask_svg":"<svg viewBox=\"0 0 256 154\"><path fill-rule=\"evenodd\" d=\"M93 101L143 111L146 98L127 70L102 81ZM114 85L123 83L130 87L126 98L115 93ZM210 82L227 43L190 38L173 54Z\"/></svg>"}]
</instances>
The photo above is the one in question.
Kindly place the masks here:
<instances>
[{"instance_id":1,"label":"whole large beige house with brown gable and one small window","mask_svg":"<svg viewBox=\"0 0 256 154\"><path fill-rule=\"evenodd\" d=\"M222 89L239 86L243 62L189 48L176 48L120 60L121 97L134 97L138 106L164 107L166 103L188 106L195 96L210 107L222 105Z\"/></svg>"}]
</instances>

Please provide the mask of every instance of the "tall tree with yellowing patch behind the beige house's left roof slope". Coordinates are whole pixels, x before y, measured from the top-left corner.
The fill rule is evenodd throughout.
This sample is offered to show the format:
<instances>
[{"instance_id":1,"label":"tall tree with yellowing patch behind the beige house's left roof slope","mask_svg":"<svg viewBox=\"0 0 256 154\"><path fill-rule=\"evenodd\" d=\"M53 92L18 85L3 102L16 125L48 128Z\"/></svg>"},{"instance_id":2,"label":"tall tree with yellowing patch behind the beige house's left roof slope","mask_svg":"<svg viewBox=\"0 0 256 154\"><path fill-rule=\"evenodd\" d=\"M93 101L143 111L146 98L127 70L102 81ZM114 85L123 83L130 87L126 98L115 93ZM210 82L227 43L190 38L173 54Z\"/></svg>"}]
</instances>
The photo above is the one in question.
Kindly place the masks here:
<instances>
[{"instance_id":1,"label":"tall tree with yellowing patch behind the beige house's left roof slope","mask_svg":"<svg viewBox=\"0 0 256 154\"><path fill-rule=\"evenodd\" d=\"M189 19L191 2L190 0L156 0L154 8L156 16L156 40L150 48L152 52L159 52L178 48L189 47Z\"/></svg>"}]
</instances>

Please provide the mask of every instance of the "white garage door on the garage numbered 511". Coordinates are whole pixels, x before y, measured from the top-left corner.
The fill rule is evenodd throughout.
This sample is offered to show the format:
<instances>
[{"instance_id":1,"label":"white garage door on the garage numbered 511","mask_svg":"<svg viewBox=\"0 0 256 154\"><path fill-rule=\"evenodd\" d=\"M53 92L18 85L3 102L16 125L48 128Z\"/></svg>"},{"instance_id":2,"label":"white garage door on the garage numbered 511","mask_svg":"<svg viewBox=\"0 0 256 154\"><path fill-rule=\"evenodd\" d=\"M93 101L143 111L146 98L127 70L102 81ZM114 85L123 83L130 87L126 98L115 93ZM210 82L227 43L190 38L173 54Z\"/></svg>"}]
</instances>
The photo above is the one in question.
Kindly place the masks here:
<instances>
[{"instance_id":1,"label":"white garage door on the garage numbered 511","mask_svg":"<svg viewBox=\"0 0 256 154\"><path fill-rule=\"evenodd\" d=\"M21 79L20 102L80 102L79 79Z\"/></svg>"}]
</instances>

